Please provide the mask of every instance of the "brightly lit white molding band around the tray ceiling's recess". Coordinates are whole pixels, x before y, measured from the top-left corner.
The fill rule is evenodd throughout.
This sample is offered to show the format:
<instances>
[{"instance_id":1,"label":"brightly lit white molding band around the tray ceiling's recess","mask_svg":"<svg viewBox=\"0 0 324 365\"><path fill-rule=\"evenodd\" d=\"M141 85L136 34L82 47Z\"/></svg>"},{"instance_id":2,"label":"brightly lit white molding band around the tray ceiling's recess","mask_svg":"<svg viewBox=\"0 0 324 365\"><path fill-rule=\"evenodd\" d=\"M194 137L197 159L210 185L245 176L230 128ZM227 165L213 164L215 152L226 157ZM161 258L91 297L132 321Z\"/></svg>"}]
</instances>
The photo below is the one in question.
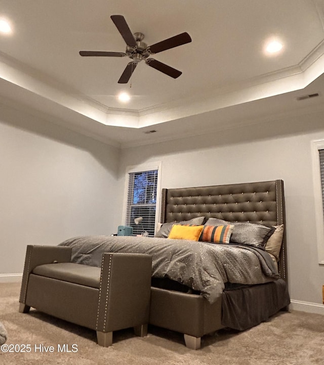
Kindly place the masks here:
<instances>
[{"instance_id":1,"label":"brightly lit white molding band around the tray ceiling's recess","mask_svg":"<svg viewBox=\"0 0 324 365\"><path fill-rule=\"evenodd\" d=\"M305 88L324 72L324 39L298 65L205 91L199 98L181 98L141 110L110 108L2 52L0 62L0 91L5 80L20 88L15 92L24 94L24 101L39 108L39 100L50 101L53 109L70 109L106 126L143 128Z\"/></svg>"}]
</instances>

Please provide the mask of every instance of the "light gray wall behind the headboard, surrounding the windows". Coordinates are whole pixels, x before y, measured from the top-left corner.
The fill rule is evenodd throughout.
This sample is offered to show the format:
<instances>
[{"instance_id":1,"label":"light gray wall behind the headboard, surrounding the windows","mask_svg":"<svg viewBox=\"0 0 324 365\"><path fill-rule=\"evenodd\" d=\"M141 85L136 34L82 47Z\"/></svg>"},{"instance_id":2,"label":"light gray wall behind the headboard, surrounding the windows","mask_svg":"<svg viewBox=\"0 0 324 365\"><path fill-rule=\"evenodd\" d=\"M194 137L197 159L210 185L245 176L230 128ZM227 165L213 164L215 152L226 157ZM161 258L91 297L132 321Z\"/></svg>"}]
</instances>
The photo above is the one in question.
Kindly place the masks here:
<instances>
[{"instance_id":1,"label":"light gray wall behind the headboard, surrounding the windows","mask_svg":"<svg viewBox=\"0 0 324 365\"><path fill-rule=\"evenodd\" d=\"M291 298L322 303L324 267L317 257L310 143L314 139L324 139L323 112L125 149L120 196L126 167L154 160L162 161L161 187L166 188L284 180Z\"/></svg>"}]
</instances>

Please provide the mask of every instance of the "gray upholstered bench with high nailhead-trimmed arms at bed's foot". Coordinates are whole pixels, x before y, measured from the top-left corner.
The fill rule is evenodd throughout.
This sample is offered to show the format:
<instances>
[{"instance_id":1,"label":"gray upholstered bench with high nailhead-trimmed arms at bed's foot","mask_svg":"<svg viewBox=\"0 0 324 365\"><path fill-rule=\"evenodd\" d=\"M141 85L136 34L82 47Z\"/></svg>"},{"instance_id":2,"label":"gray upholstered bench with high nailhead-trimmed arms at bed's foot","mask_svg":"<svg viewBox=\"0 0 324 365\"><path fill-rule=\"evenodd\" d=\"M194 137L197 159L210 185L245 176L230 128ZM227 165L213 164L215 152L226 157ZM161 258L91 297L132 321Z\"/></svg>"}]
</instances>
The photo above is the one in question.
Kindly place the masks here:
<instances>
[{"instance_id":1,"label":"gray upholstered bench with high nailhead-trimmed arms at bed's foot","mask_svg":"<svg viewBox=\"0 0 324 365\"><path fill-rule=\"evenodd\" d=\"M105 253L101 268L71 263L71 248L27 246L21 313L30 307L97 331L110 346L112 332L134 327L146 336L152 260L149 255Z\"/></svg>"}]
</instances>

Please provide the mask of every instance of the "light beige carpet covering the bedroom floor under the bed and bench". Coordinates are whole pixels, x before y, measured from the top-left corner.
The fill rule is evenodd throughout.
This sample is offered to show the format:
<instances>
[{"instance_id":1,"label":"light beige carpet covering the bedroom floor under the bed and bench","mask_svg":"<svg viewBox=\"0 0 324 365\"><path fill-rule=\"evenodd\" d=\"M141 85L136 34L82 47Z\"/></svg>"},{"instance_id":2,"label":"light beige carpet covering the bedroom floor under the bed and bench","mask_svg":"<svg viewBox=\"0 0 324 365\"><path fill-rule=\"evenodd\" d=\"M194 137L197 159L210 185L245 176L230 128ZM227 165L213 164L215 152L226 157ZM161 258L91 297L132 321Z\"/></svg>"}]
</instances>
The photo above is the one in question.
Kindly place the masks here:
<instances>
[{"instance_id":1,"label":"light beige carpet covering the bedroom floor under the bed and bench","mask_svg":"<svg viewBox=\"0 0 324 365\"><path fill-rule=\"evenodd\" d=\"M95 331L56 319L36 310L18 312L20 284L0 283L0 321L8 332L0 351L6 365L322 365L324 316L299 311L280 312L244 332L218 331L190 350L179 333L149 327L147 337L132 329L116 331L108 348L96 343ZM63 304L64 305L64 304ZM30 345L30 352L21 352ZM18 345L18 346L13 346ZM50 348L52 346L53 348ZM6 350L7 347L3 348ZM51 349L53 352L46 352ZM28 347L26 347L28 350ZM28 350L29 351L29 350ZM74 351L74 352L73 352Z\"/></svg>"}]
</instances>

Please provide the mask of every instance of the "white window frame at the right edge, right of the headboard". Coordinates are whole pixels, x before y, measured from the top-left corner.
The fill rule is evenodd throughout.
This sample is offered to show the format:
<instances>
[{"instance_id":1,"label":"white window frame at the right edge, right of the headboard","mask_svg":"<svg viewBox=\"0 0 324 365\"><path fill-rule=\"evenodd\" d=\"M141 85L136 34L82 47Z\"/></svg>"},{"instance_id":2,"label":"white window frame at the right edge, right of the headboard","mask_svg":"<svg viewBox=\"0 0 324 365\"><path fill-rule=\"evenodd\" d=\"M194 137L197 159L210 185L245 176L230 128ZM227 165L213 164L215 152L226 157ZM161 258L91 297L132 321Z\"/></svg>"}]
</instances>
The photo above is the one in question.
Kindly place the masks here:
<instances>
[{"instance_id":1,"label":"white window frame at the right edge, right of the headboard","mask_svg":"<svg viewBox=\"0 0 324 365\"><path fill-rule=\"evenodd\" d=\"M324 192L322 192L321 187L320 162L318 153L319 150L324 149L324 140L311 141L311 149L318 263L320 265L324 265Z\"/></svg>"}]
</instances>

